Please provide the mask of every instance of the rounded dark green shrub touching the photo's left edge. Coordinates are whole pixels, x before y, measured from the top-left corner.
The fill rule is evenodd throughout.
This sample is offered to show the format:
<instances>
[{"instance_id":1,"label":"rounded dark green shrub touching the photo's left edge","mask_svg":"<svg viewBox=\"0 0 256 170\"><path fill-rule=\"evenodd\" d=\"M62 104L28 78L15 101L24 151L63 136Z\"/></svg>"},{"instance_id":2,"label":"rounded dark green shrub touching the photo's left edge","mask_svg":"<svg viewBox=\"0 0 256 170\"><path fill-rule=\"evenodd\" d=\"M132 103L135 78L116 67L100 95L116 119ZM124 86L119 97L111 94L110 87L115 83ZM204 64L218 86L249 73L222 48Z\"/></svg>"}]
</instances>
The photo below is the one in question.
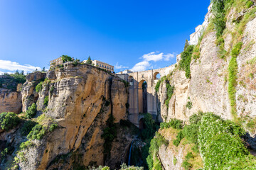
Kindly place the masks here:
<instances>
[{"instance_id":1,"label":"rounded dark green shrub touching the photo's left edge","mask_svg":"<svg viewBox=\"0 0 256 170\"><path fill-rule=\"evenodd\" d=\"M11 130L19 123L18 116L13 112L3 112L0 114L0 125L3 130Z\"/></svg>"}]
</instances>

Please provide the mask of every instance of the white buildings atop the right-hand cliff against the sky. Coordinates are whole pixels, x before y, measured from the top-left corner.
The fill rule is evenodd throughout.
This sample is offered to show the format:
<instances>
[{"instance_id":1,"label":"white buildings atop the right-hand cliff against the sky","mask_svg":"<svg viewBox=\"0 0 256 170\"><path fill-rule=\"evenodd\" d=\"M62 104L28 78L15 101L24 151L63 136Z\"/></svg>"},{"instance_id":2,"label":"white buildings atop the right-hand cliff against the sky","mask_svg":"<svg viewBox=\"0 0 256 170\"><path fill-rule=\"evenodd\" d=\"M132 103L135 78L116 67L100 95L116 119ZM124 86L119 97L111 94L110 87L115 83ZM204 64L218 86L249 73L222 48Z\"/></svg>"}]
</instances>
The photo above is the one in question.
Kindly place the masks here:
<instances>
[{"instance_id":1,"label":"white buildings atop the right-hand cliff against the sky","mask_svg":"<svg viewBox=\"0 0 256 170\"><path fill-rule=\"evenodd\" d=\"M211 13L212 4L208 6L208 13L205 16L205 21L203 21L202 25L196 27L196 32L190 35L190 41L188 42L189 45L197 45L198 40L203 35L203 30L207 28L208 24L210 23L210 17L213 16Z\"/></svg>"}]
</instances>

